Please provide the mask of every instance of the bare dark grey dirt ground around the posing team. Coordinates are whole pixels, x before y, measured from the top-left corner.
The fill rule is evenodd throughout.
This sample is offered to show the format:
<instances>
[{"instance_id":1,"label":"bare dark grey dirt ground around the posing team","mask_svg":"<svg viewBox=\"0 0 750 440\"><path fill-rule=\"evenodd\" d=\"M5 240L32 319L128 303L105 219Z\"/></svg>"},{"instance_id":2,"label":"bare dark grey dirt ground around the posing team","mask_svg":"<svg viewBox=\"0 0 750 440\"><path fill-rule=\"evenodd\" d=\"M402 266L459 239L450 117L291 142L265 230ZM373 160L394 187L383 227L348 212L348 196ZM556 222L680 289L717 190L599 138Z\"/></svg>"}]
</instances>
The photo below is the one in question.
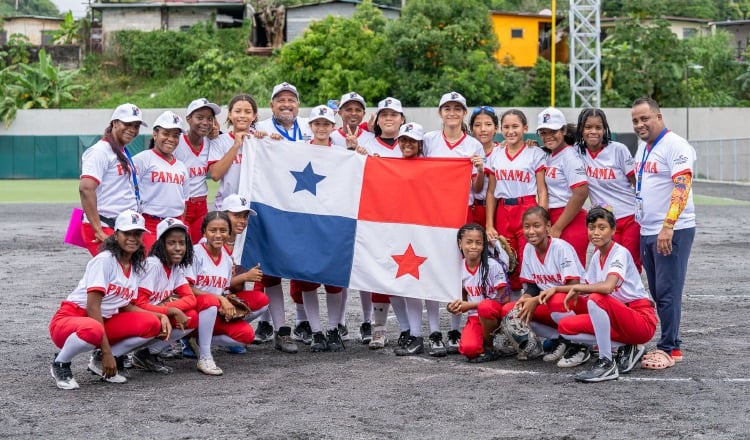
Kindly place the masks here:
<instances>
[{"instance_id":1,"label":"bare dark grey dirt ground around the posing team","mask_svg":"<svg viewBox=\"0 0 750 440\"><path fill-rule=\"evenodd\" d=\"M750 200L750 188L696 185ZM105 384L73 362L76 391L55 387L47 324L80 279L87 253L62 243L72 206L0 205L2 438L750 438L746 326L750 206L699 206L683 310L685 361L578 384L541 361L468 364L460 356L398 358L357 341L343 353L297 355L271 345L217 351L222 377L193 360L171 376L132 370ZM360 323L350 295L349 328ZM447 314L443 312L447 329ZM287 306L288 322L293 307ZM323 314L325 316L325 314ZM390 322L390 336L398 329Z\"/></svg>"}]
</instances>

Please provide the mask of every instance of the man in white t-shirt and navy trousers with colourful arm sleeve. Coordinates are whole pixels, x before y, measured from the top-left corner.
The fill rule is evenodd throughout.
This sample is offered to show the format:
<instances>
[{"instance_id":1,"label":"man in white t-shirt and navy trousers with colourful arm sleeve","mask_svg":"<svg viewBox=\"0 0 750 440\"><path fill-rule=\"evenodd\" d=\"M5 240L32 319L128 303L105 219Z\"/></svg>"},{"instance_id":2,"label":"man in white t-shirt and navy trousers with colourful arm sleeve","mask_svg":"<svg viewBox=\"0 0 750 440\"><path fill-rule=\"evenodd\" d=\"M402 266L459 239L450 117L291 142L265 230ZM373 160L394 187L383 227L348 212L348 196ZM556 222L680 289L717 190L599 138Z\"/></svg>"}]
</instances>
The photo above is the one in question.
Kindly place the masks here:
<instances>
[{"instance_id":1,"label":"man in white t-shirt and navy trousers with colourful arm sleeve","mask_svg":"<svg viewBox=\"0 0 750 440\"><path fill-rule=\"evenodd\" d=\"M641 225L643 268L661 323L658 350L646 354L644 360L661 357L664 362L660 364L666 368L682 361L682 289L695 237L690 191L695 149L666 128L659 104L652 98L637 99L631 115L633 130L641 139L635 153L635 218Z\"/></svg>"}]
</instances>

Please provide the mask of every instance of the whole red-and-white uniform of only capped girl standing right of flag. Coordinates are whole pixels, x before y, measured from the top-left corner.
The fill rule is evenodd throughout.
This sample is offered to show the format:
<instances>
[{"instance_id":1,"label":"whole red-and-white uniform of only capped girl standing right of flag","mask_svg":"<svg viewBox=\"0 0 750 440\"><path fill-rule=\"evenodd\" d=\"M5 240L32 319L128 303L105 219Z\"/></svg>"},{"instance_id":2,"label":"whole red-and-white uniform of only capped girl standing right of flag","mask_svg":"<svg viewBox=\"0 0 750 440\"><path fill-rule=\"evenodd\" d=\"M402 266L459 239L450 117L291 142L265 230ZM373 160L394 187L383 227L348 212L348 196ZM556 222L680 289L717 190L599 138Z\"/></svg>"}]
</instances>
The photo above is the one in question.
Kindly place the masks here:
<instances>
[{"instance_id":1,"label":"whole red-and-white uniform of only capped girl standing right of flag","mask_svg":"<svg viewBox=\"0 0 750 440\"><path fill-rule=\"evenodd\" d=\"M586 166L573 147L566 145L547 156L545 182L549 193L549 215L554 225L573 196L573 188L587 185ZM560 238L575 248L582 264L589 246L586 211L581 209L561 231Z\"/></svg>"}]
</instances>

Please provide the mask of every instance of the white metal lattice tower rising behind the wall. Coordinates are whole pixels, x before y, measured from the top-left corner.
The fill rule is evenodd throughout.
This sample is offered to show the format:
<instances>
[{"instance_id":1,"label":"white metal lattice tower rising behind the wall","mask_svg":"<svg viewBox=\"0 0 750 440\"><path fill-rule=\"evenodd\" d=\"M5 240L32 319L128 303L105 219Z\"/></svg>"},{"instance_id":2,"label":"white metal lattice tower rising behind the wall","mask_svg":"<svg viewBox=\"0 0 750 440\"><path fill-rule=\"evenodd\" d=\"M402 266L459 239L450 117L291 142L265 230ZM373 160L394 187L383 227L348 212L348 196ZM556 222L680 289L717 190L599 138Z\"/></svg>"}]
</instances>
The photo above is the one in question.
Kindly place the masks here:
<instances>
[{"instance_id":1,"label":"white metal lattice tower rising behind the wall","mask_svg":"<svg viewBox=\"0 0 750 440\"><path fill-rule=\"evenodd\" d=\"M570 106L601 105L599 0L570 0Z\"/></svg>"}]
</instances>

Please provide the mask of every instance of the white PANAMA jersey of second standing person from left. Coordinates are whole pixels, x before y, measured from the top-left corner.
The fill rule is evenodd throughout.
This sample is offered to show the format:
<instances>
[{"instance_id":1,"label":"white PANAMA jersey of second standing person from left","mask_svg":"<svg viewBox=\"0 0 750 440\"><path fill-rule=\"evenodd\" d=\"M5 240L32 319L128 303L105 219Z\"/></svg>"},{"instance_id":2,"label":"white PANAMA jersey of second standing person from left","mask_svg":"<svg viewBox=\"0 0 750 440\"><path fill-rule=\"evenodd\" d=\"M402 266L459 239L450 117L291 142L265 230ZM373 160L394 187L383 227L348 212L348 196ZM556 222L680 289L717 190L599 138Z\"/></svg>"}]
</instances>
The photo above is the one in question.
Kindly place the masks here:
<instances>
[{"instance_id":1,"label":"white PANAMA jersey of second standing person from left","mask_svg":"<svg viewBox=\"0 0 750 440\"><path fill-rule=\"evenodd\" d=\"M155 148L133 157L141 190L141 211L156 217L179 217L188 198L188 172L176 158L168 161Z\"/></svg>"}]
</instances>

